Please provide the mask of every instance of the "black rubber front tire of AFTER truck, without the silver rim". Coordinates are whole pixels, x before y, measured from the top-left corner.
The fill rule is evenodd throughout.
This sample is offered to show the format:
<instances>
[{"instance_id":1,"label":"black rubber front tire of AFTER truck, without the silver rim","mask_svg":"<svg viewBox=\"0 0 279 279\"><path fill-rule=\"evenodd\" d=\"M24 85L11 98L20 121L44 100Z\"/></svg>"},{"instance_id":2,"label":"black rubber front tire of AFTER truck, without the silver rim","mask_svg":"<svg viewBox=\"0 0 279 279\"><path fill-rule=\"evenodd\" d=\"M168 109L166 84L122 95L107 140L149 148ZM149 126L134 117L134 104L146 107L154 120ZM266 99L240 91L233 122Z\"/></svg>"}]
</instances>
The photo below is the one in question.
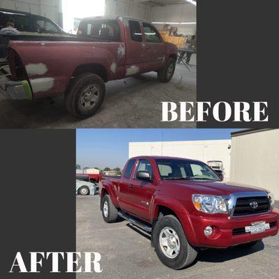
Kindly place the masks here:
<instances>
[{"instance_id":1,"label":"black rubber front tire of AFTER truck, without the silver rim","mask_svg":"<svg viewBox=\"0 0 279 279\"><path fill-rule=\"evenodd\" d=\"M176 235L179 237L180 249L174 258L167 257L160 247L160 234L166 227L174 229ZM171 269L183 269L190 266L197 258L197 248L190 246L181 223L175 216L168 215L158 220L153 229L153 243L160 261Z\"/></svg>"}]
</instances>

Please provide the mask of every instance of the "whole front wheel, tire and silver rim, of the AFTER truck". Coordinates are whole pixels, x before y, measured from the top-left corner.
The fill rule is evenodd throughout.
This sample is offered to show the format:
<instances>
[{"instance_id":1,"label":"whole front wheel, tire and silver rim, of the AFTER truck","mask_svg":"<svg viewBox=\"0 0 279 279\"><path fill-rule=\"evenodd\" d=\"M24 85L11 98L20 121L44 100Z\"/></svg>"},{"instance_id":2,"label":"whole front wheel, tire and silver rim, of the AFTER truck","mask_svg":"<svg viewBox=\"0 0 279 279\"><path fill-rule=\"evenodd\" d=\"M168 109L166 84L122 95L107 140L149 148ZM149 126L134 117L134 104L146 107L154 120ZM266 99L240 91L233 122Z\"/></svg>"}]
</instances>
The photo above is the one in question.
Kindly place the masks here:
<instances>
[{"instance_id":1,"label":"whole front wheel, tire and silver rim, of the AFTER truck","mask_svg":"<svg viewBox=\"0 0 279 279\"><path fill-rule=\"evenodd\" d=\"M158 220L153 229L153 241L158 258L171 269L190 266L197 257L197 249L190 246L175 216L164 216Z\"/></svg>"}]
</instances>

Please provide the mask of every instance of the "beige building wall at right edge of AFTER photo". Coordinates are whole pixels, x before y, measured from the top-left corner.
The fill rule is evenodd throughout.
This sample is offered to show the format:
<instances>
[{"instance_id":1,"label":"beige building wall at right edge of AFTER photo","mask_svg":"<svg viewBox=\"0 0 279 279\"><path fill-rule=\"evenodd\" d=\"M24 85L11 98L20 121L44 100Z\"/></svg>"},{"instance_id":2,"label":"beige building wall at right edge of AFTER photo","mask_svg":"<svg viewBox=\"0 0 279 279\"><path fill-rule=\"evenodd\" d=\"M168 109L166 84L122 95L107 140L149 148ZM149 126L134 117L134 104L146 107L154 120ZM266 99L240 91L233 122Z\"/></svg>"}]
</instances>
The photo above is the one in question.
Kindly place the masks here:
<instances>
[{"instance_id":1,"label":"beige building wall at right edge of AFTER photo","mask_svg":"<svg viewBox=\"0 0 279 279\"><path fill-rule=\"evenodd\" d=\"M279 129L232 137L230 180L271 190L279 200Z\"/></svg>"}]
</instances>

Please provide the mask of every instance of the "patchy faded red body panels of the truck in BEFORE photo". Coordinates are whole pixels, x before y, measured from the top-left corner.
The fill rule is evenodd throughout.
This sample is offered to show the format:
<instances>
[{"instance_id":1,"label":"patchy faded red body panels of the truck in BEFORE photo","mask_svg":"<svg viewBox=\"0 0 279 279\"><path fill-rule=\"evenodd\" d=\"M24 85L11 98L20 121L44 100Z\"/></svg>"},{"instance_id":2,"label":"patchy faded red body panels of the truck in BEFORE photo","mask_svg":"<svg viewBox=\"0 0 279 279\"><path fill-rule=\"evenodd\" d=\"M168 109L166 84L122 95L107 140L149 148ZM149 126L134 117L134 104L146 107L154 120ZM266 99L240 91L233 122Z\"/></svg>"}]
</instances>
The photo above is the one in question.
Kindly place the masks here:
<instances>
[{"instance_id":1,"label":"patchy faded red body panels of the truck in BEFORE photo","mask_svg":"<svg viewBox=\"0 0 279 279\"><path fill-rule=\"evenodd\" d=\"M128 20L117 17L119 41L89 41L82 36L76 41L11 41L10 53L23 64L33 99L63 94L80 67L98 68L107 82L160 70L169 56L176 57L176 47L162 38L160 43L146 42L142 22L142 42L132 40ZM12 60L10 68L15 73ZM18 77L12 75L12 79Z\"/></svg>"}]
</instances>

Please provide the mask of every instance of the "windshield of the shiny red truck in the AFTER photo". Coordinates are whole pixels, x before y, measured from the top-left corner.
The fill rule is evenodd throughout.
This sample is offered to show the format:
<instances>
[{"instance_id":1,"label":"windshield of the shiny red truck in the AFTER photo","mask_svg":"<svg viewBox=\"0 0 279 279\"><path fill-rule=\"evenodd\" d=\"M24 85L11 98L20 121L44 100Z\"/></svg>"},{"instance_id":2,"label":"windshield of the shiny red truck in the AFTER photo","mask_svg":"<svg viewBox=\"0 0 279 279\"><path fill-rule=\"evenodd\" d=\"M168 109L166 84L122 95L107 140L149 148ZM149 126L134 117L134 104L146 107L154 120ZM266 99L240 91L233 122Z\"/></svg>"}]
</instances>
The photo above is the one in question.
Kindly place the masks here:
<instances>
[{"instance_id":1,"label":"windshield of the shiny red truck in the AFTER photo","mask_svg":"<svg viewBox=\"0 0 279 279\"><path fill-rule=\"evenodd\" d=\"M191 160L156 160L160 177L163 180L217 180L220 177L202 162Z\"/></svg>"}]
</instances>

